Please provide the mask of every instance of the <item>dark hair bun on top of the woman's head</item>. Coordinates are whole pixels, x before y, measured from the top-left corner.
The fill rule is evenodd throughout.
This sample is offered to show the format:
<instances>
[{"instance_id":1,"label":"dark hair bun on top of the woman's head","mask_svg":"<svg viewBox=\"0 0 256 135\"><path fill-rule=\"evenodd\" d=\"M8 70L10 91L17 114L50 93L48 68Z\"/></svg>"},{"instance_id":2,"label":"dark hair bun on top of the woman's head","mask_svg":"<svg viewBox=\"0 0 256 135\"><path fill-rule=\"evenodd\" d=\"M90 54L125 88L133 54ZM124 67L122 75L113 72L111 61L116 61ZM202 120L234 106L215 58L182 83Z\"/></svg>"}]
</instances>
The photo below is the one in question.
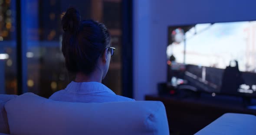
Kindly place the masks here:
<instances>
[{"instance_id":1,"label":"dark hair bun on top of the woman's head","mask_svg":"<svg viewBox=\"0 0 256 135\"><path fill-rule=\"evenodd\" d=\"M65 32L77 32L79 29L80 21L80 13L74 7L69 7L61 21L62 29Z\"/></svg>"}]
</instances>

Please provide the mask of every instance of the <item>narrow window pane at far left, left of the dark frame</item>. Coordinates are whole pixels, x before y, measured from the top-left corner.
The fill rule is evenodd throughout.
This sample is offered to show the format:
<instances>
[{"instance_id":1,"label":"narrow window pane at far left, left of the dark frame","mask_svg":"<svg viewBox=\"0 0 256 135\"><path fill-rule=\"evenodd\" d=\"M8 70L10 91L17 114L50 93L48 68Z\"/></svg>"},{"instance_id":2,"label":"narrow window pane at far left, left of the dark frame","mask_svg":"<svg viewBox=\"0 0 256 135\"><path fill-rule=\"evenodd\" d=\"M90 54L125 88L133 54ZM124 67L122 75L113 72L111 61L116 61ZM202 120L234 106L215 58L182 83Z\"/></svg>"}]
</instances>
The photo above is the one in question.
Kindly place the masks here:
<instances>
[{"instance_id":1,"label":"narrow window pane at far left, left of the dark frame","mask_svg":"<svg viewBox=\"0 0 256 135\"><path fill-rule=\"evenodd\" d=\"M15 0L0 0L0 94L16 94Z\"/></svg>"}]
</instances>

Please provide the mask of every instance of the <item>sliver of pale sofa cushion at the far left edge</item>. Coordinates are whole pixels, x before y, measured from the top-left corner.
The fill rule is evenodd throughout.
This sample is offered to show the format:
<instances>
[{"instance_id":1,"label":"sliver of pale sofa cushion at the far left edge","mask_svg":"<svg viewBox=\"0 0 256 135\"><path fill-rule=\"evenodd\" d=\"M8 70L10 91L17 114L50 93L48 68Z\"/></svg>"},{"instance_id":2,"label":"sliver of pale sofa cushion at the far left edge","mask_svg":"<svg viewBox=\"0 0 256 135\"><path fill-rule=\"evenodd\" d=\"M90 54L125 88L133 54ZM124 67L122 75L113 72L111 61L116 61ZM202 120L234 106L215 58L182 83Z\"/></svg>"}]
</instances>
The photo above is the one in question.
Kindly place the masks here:
<instances>
[{"instance_id":1,"label":"sliver of pale sofa cushion at the far left edge","mask_svg":"<svg viewBox=\"0 0 256 135\"><path fill-rule=\"evenodd\" d=\"M4 105L7 101L15 98L17 95L4 95L0 94L0 133L9 134L9 125L7 121L7 113L4 109Z\"/></svg>"}]
</instances>

